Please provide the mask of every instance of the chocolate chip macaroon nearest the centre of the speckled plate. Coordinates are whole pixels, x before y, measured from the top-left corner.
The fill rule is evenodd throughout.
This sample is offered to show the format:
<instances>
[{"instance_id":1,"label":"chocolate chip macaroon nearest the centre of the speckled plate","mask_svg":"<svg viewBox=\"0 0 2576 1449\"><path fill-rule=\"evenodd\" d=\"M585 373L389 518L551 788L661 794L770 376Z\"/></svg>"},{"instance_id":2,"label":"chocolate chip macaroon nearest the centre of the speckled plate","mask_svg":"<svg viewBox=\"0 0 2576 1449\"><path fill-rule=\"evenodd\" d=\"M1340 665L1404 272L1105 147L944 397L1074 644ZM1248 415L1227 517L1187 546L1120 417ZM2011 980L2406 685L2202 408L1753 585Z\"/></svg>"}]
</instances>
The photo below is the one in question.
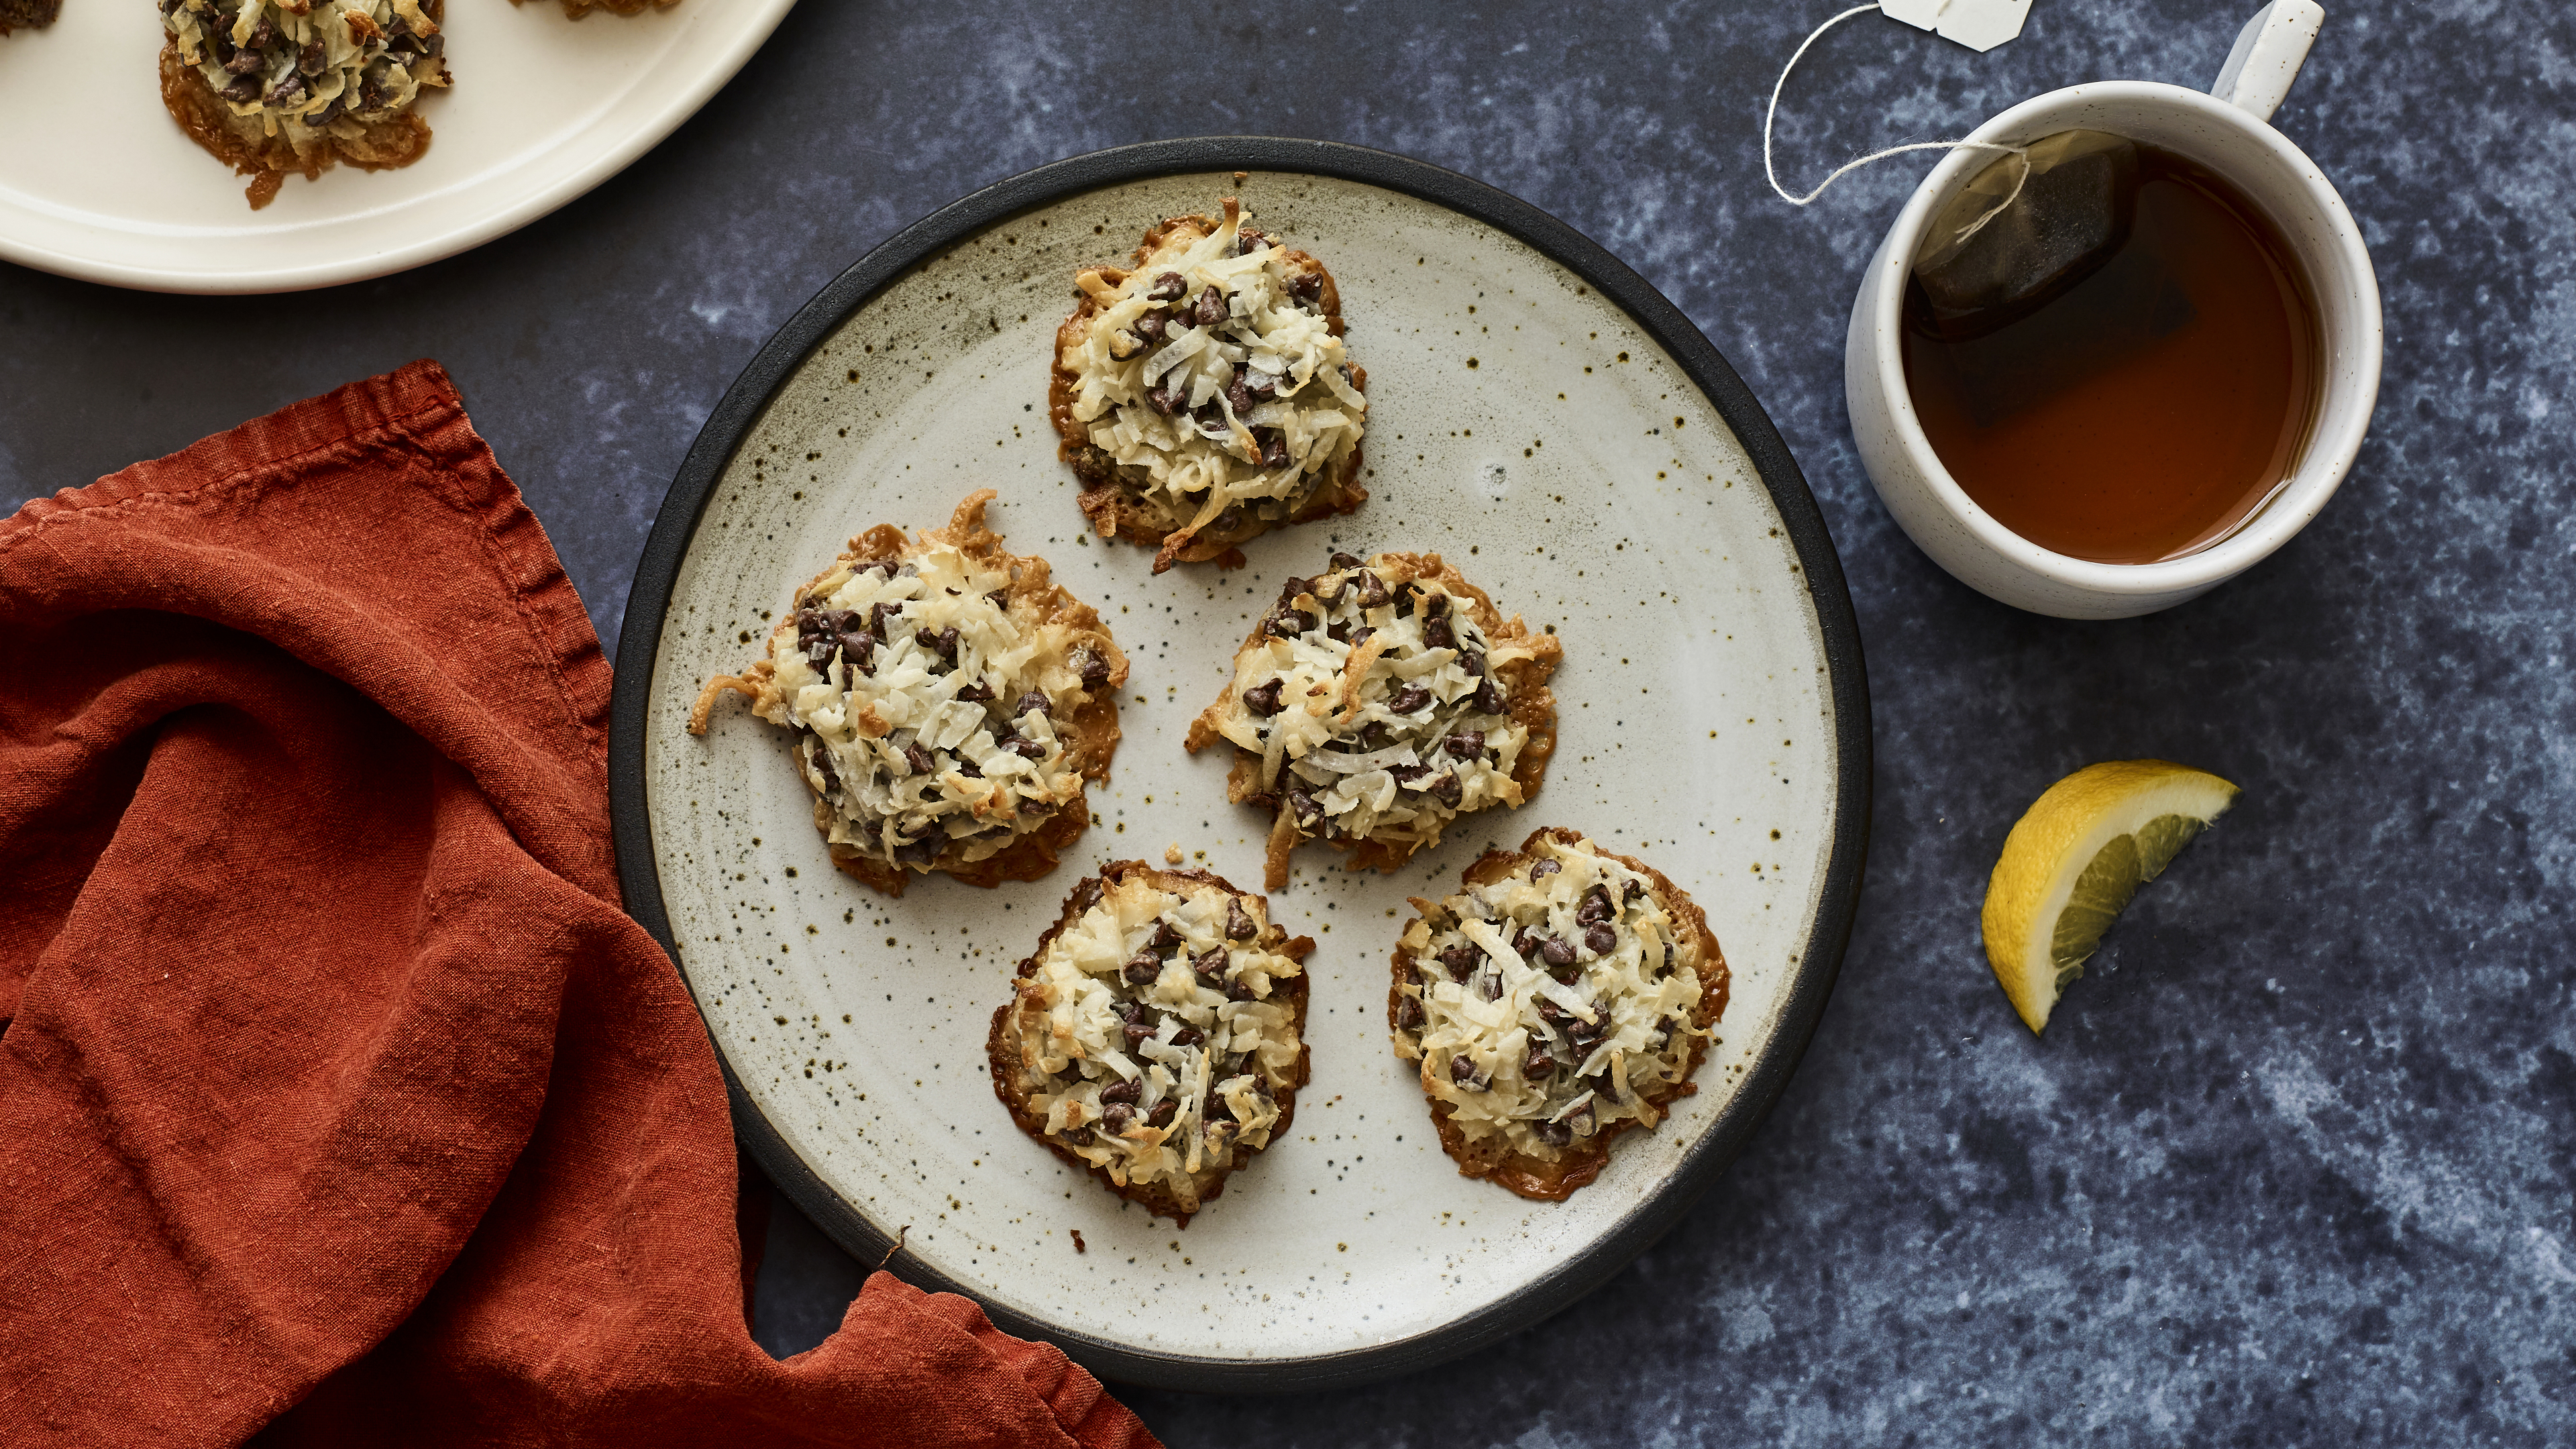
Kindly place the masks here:
<instances>
[{"instance_id":1,"label":"chocolate chip macaroon nearest the centre of the speckled plate","mask_svg":"<svg viewBox=\"0 0 2576 1449\"><path fill-rule=\"evenodd\" d=\"M1273 812L1265 890L1301 841L1391 871L1450 820L1538 794L1561 657L1440 554L1332 554L1280 585L1182 743L1234 745L1226 799Z\"/></svg>"}]
</instances>

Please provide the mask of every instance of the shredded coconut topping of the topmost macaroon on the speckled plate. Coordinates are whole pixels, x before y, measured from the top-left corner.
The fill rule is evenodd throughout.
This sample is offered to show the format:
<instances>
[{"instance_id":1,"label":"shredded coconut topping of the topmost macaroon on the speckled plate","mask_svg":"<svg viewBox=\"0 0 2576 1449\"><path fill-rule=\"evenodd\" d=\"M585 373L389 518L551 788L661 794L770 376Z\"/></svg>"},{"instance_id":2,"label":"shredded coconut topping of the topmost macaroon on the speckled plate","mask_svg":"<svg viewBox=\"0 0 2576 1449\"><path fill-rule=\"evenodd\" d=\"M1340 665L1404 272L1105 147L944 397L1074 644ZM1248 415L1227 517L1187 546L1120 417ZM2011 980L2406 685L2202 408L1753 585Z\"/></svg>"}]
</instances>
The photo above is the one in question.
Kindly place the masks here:
<instances>
[{"instance_id":1,"label":"shredded coconut topping of the topmost macaroon on the speckled plate","mask_svg":"<svg viewBox=\"0 0 2576 1449\"><path fill-rule=\"evenodd\" d=\"M1360 446L1368 400L1321 307L1324 276L1239 224L1188 219L1131 271L1074 278L1100 307L1064 348L1072 415L1141 469L1139 498L1190 534L1293 516Z\"/></svg>"}]
</instances>

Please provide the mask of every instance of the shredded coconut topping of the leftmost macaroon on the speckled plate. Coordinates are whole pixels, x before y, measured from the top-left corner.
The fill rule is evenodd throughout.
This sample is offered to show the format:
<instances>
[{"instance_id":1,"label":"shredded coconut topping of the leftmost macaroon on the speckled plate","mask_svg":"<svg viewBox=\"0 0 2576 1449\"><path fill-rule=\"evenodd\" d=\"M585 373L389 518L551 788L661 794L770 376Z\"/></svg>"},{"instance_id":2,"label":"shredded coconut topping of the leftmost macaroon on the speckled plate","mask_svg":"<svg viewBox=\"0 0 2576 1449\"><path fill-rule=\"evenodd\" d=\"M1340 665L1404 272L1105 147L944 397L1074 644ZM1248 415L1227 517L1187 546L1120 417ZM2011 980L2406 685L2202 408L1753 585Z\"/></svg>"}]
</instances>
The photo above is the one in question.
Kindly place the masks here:
<instances>
[{"instance_id":1,"label":"shredded coconut topping of the leftmost macaroon on the speckled plate","mask_svg":"<svg viewBox=\"0 0 2576 1449\"><path fill-rule=\"evenodd\" d=\"M770 637L778 722L799 730L835 846L914 871L951 846L981 861L1082 797L1056 719L1110 665L1069 627L1012 614L1007 585L956 544L842 562Z\"/></svg>"}]
</instances>

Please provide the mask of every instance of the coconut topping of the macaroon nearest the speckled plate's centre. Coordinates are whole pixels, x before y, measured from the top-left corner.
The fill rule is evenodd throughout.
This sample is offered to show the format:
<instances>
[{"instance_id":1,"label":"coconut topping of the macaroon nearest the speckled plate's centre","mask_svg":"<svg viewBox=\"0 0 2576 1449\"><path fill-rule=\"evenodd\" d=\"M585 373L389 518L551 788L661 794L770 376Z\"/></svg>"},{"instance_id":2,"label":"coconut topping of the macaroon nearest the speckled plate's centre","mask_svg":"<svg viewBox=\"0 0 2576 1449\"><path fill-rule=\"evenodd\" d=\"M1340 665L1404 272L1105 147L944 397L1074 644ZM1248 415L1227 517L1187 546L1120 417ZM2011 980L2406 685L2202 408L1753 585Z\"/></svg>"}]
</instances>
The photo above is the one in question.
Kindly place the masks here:
<instances>
[{"instance_id":1,"label":"coconut topping of the macaroon nearest the speckled plate's centre","mask_svg":"<svg viewBox=\"0 0 2576 1449\"><path fill-rule=\"evenodd\" d=\"M1234 657L1218 732L1260 755L1265 804L1301 835L1430 846L1458 815L1520 804L1512 766L1530 730L1494 668L1538 652L1486 639L1440 580L1388 585L1334 554L1329 572L1280 588Z\"/></svg>"}]
</instances>

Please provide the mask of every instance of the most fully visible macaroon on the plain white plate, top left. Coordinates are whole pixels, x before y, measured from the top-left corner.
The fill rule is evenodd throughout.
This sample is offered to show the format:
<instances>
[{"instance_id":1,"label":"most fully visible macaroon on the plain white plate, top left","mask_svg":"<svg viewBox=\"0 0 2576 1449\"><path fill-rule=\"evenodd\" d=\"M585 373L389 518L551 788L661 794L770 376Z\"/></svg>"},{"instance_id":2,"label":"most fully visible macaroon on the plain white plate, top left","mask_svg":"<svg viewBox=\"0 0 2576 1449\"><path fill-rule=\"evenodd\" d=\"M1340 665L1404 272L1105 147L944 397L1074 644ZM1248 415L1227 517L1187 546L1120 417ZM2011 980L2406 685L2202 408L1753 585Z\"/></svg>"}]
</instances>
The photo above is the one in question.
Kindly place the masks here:
<instances>
[{"instance_id":1,"label":"most fully visible macaroon on the plain white plate, top left","mask_svg":"<svg viewBox=\"0 0 2576 1449\"><path fill-rule=\"evenodd\" d=\"M160 0L162 106L250 180L250 209L348 162L412 165L430 150L415 103L443 90L446 0Z\"/></svg>"}]
</instances>

